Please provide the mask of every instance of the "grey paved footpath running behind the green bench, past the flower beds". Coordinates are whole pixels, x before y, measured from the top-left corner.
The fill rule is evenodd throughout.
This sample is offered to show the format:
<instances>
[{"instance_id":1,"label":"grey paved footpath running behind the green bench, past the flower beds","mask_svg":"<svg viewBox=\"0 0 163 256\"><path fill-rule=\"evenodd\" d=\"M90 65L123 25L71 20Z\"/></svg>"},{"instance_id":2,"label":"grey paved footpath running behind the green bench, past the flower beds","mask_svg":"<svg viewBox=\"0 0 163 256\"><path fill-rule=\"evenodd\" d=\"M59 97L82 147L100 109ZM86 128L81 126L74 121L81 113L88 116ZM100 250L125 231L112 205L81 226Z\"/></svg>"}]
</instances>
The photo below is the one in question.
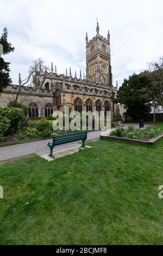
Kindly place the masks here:
<instances>
[{"instance_id":1,"label":"grey paved footpath running behind the green bench, past the flower beds","mask_svg":"<svg viewBox=\"0 0 163 256\"><path fill-rule=\"evenodd\" d=\"M147 124L145 126L147 127L151 125L152 124ZM124 125L124 128L126 129L127 125ZM88 140L96 139L96 138L99 138L100 135L101 135L101 131L88 132L87 139ZM26 143L21 143L16 145L10 145L6 147L0 147L0 161L11 159L13 157L26 156L34 153L37 155L47 154L49 152L47 143L51 141L52 139L42 139L41 141L26 142ZM77 143L70 143L62 146L57 146L54 148L54 152L65 149L65 148L70 148L70 145L72 147L72 144L77 145Z\"/></svg>"}]
</instances>

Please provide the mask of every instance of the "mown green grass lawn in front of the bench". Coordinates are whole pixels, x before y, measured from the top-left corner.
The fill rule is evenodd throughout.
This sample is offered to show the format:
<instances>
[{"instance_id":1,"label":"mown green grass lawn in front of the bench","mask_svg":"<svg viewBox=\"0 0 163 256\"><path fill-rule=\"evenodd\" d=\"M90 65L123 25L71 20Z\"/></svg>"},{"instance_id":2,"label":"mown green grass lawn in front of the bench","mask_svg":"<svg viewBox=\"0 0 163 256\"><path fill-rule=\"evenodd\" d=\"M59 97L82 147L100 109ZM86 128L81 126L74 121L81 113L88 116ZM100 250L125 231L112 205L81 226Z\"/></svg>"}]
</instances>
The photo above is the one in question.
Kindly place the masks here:
<instances>
[{"instance_id":1,"label":"mown green grass lawn in front of the bench","mask_svg":"<svg viewBox=\"0 0 163 256\"><path fill-rule=\"evenodd\" d=\"M87 144L52 162L30 155L0 166L1 244L163 243L163 139Z\"/></svg>"}]
</instances>

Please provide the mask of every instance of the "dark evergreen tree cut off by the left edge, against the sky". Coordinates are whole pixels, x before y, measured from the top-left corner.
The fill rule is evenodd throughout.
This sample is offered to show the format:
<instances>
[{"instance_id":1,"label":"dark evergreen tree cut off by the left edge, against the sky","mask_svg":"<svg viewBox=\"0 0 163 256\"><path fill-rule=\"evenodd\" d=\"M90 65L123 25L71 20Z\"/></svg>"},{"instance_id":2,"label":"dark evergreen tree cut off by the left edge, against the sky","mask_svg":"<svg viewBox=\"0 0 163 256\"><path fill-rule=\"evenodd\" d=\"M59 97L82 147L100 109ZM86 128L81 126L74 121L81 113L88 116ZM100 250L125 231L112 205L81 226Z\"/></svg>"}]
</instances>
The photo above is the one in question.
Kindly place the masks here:
<instances>
[{"instance_id":1,"label":"dark evergreen tree cut off by the left edge, against the sky","mask_svg":"<svg viewBox=\"0 0 163 256\"><path fill-rule=\"evenodd\" d=\"M0 38L0 44L3 46L3 55L14 51L14 47L8 42L8 31L7 28L3 29L3 34ZM10 62L5 62L4 58L0 56L0 93L3 88L7 87L12 81L9 75Z\"/></svg>"}]
</instances>

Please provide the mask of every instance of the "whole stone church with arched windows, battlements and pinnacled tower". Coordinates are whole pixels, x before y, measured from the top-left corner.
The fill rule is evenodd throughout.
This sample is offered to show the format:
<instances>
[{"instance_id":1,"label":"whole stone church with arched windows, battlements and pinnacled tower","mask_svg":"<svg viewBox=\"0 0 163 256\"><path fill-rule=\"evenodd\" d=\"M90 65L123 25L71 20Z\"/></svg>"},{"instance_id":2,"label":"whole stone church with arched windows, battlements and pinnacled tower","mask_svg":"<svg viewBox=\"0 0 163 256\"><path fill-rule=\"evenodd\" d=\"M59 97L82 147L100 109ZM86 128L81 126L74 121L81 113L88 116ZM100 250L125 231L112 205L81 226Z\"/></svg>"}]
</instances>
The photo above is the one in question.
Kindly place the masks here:
<instances>
[{"instance_id":1,"label":"whole stone church with arched windows, battlements and pinnacled tower","mask_svg":"<svg viewBox=\"0 0 163 256\"><path fill-rule=\"evenodd\" d=\"M99 34L97 21L96 35L86 43L86 75L72 76L71 68L65 74L57 74L57 68L50 71L38 69L33 86L24 86L18 102L28 107L29 118L47 118L55 110L64 111L69 106L72 111L111 111L111 119L117 119L118 106L112 100L117 94L117 84L112 85L110 33L107 38ZM19 83L21 82L19 78ZM16 95L18 85L10 84L0 95L0 106L8 106ZM23 99L23 100L22 100Z\"/></svg>"}]
</instances>

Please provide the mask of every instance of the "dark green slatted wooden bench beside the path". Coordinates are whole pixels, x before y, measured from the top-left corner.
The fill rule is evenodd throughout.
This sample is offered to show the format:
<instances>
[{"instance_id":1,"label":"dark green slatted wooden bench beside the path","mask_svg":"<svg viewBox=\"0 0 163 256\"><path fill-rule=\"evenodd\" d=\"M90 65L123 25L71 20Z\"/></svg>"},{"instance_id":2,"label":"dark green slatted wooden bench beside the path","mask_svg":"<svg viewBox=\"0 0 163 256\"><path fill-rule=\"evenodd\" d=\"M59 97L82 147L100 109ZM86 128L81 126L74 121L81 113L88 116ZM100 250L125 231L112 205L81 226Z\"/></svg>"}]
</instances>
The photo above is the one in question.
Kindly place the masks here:
<instances>
[{"instance_id":1,"label":"dark green slatted wooden bench beside the path","mask_svg":"<svg viewBox=\"0 0 163 256\"><path fill-rule=\"evenodd\" d=\"M66 144L66 143L71 143L71 142L76 142L76 141L82 141L82 148L85 148L84 142L87 139L87 131L83 132L76 132L76 133L70 133L66 135L60 135L60 136L53 136L53 142L49 142L47 145L51 150L51 153L49 156L54 158L53 155L53 148L58 145Z\"/></svg>"}]
</instances>

